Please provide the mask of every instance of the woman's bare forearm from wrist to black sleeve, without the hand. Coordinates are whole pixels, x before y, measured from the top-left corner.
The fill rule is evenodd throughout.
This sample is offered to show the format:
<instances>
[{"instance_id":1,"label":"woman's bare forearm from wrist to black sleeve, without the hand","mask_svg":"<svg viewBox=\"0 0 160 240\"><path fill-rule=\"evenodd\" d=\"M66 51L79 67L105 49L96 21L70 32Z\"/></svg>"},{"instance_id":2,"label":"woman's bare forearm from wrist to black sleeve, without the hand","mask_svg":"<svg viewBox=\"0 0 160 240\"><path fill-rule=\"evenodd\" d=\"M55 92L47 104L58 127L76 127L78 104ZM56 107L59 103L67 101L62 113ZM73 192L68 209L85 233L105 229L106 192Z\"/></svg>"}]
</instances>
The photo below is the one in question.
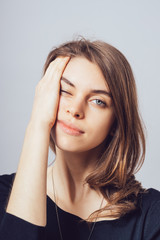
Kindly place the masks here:
<instances>
[{"instance_id":1,"label":"woman's bare forearm from wrist to black sleeve, without the hand","mask_svg":"<svg viewBox=\"0 0 160 240\"><path fill-rule=\"evenodd\" d=\"M46 181L50 131L29 123L6 211L33 224L46 225Z\"/></svg>"}]
</instances>

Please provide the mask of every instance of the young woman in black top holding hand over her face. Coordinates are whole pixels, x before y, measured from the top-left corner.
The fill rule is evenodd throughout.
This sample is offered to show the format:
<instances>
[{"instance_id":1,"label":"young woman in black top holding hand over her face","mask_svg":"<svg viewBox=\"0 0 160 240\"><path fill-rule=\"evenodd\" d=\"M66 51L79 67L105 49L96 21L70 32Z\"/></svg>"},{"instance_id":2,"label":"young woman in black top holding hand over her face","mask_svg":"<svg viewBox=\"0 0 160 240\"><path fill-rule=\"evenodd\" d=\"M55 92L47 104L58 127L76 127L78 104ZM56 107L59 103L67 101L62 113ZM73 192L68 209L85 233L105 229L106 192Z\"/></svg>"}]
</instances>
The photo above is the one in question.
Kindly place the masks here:
<instances>
[{"instance_id":1,"label":"young woman in black top holding hand over her face","mask_svg":"<svg viewBox=\"0 0 160 240\"><path fill-rule=\"evenodd\" d=\"M134 177L144 156L123 54L85 39L55 48L36 87L17 172L0 176L0 239L160 239L160 192Z\"/></svg>"}]
</instances>

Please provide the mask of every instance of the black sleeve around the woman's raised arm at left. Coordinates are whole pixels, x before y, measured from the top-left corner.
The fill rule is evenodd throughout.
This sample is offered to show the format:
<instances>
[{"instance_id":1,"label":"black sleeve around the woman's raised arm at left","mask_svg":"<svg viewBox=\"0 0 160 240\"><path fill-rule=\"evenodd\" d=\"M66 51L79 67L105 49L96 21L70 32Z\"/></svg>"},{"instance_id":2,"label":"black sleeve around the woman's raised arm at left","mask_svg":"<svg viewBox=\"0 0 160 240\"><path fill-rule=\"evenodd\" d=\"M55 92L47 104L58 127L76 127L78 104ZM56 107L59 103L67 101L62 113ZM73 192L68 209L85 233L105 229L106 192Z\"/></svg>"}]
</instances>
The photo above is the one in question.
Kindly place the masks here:
<instances>
[{"instance_id":1,"label":"black sleeve around the woman's raised arm at left","mask_svg":"<svg viewBox=\"0 0 160 240\"><path fill-rule=\"evenodd\" d=\"M45 227L6 212L15 174L0 176L0 240L45 240Z\"/></svg>"}]
</instances>

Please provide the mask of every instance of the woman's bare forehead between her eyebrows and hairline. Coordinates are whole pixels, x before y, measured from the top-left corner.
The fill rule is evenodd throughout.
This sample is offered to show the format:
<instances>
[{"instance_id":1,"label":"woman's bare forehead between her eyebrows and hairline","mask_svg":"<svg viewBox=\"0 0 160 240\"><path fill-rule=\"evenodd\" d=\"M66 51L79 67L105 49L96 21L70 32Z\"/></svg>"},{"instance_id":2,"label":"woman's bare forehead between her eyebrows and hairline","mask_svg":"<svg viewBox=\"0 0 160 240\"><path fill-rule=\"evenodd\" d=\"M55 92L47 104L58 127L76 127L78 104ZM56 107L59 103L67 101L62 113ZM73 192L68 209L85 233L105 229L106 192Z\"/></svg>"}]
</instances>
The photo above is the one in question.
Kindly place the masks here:
<instances>
[{"instance_id":1,"label":"woman's bare forehead between her eyebrows and hairline","mask_svg":"<svg viewBox=\"0 0 160 240\"><path fill-rule=\"evenodd\" d=\"M62 76L71 81L76 87L109 90L108 84L98 65L84 57L71 58Z\"/></svg>"}]
</instances>

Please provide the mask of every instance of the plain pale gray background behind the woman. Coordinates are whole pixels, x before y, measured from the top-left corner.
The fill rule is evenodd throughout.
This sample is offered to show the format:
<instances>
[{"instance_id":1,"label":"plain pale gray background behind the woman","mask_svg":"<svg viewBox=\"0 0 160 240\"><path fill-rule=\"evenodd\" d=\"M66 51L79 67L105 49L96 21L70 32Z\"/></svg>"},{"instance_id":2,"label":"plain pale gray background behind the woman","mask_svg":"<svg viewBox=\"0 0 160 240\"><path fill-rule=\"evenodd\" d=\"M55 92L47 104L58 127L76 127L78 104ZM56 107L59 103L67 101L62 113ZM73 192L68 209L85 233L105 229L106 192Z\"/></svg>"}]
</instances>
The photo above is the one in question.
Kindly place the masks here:
<instances>
[{"instance_id":1,"label":"plain pale gray background behind the woman","mask_svg":"<svg viewBox=\"0 0 160 240\"><path fill-rule=\"evenodd\" d=\"M132 66L147 128L146 159L137 178L160 190L159 13L159 0L0 0L0 174L17 170L49 51L83 35L114 45ZM53 157L50 152L49 162Z\"/></svg>"}]
</instances>

